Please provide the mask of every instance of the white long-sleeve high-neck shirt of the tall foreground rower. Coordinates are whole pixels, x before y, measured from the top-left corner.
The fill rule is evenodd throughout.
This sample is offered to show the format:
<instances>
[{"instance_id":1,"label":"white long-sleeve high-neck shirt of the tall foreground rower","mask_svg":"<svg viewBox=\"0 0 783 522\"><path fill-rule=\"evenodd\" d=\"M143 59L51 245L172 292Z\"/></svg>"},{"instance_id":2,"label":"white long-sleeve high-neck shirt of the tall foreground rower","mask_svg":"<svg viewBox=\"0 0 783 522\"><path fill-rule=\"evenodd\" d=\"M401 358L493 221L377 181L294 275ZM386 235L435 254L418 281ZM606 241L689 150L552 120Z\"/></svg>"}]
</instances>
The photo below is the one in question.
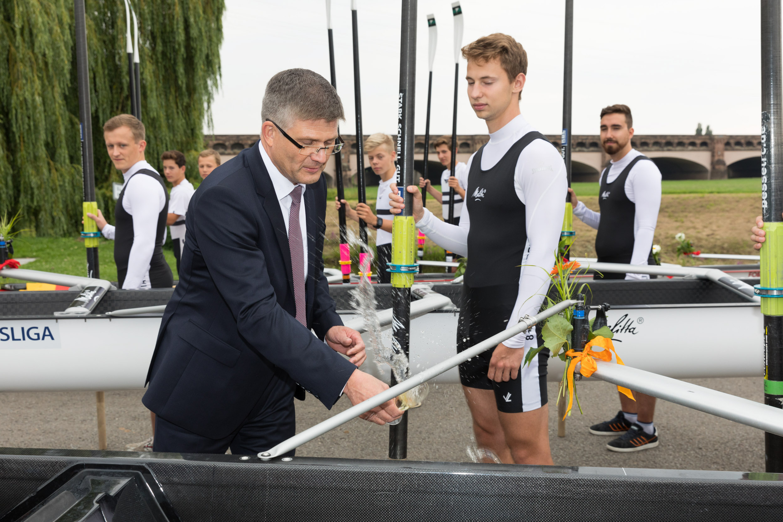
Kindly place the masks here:
<instances>
[{"instance_id":1,"label":"white long-sleeve high-neck shirt of the tall foreground rower","mask_svg":"<svg viewBox=\"0 0 783 522\"><path fill-rule=\"evenodd\" d=\"M499 131L490 134L489 143L482 153L482 169L494 167L515 142L535 130L520 115ZM467 162L468 171L474 157L475 154ZM528 245L525 248L525 256L520 260L519 292L507 327L516 325L518 319L525 314L535 315L549 286L548 274L554 265L554 253L560 241L565 212L564 196L568 189L565 164L557 149L541 139L536 139L525 147L514 170L514 189L519 200L525 203ZM471 187L468 185L466 199L470 194ZM425 208L424 218L416 226L440 247L456 254L467 255L470 262L467 232L471 229L471 218L467 204L462 208L460 225L449 225L435 218L435 215ZM535 343L535 338L527 341L527 344ZM503 344L512 348L527 347L525 333L511 337L503 341Z\"/></svg>"}]
</instances>

